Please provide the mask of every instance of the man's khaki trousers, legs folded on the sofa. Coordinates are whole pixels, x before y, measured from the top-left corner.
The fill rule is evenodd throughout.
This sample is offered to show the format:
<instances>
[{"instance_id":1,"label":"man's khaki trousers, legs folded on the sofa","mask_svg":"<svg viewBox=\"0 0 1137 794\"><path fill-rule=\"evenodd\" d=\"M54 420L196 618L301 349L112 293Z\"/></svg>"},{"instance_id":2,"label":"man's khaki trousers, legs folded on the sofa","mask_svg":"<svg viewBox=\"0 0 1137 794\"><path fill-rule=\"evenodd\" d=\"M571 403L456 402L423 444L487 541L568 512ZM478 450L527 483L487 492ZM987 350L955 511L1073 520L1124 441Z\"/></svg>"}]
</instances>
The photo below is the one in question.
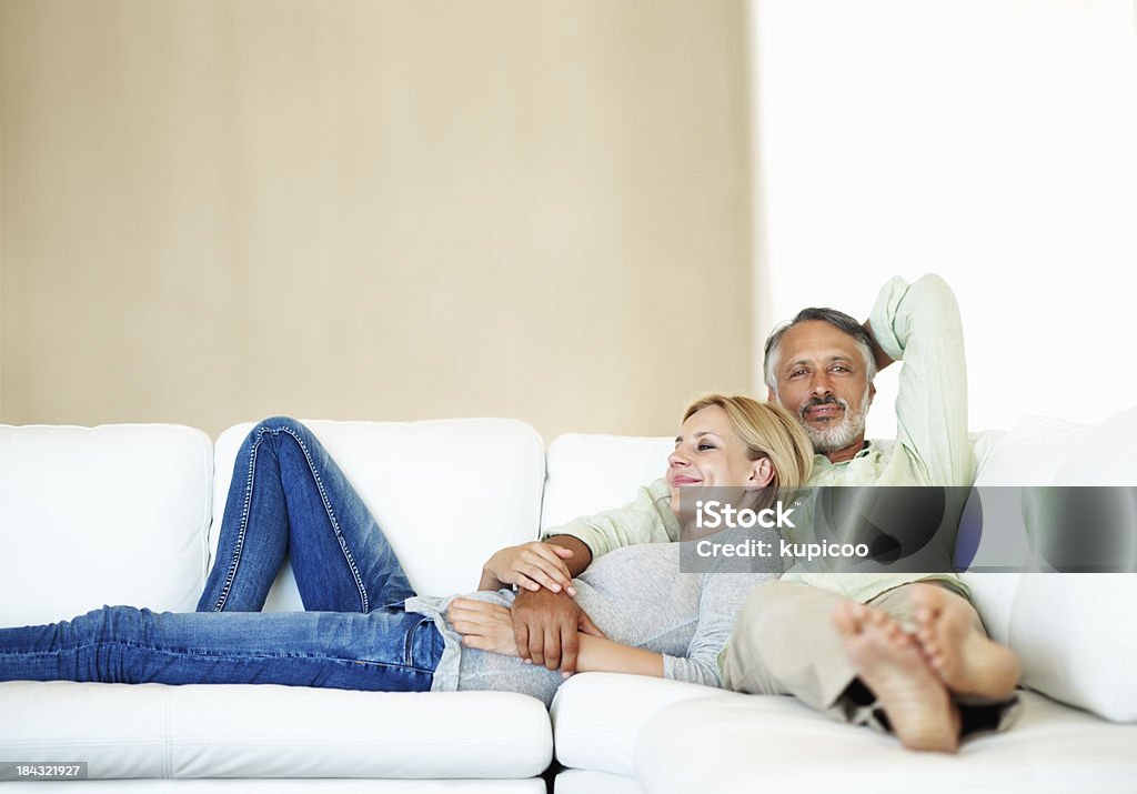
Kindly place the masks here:
<instances>
[{"instance_id":1,"label":"man's khaki trousers, legs folded on the sofa","mask_svg":"<svg viewBox=\"0 0 1137 794\"><path fill-rule=\"evenodd\" d=\"M868 605L910 629L915 622L911 593L911 585L902 585ZM833 607L843 601L846 598L840 594L796 582L771 581L754 588L723 654L723 687L758 695L794 695L833 719L887 730L875 703L850 696L849 685L857 676L832 619ZM974 609L972 613L977 628L984 631L979 614ZM994 706L993 718L976 729L1002 730L1013 720L1018 697L955 700L961 709ZM966 733L966 719L964 723Z\"/></svg>"}]
</instances>

